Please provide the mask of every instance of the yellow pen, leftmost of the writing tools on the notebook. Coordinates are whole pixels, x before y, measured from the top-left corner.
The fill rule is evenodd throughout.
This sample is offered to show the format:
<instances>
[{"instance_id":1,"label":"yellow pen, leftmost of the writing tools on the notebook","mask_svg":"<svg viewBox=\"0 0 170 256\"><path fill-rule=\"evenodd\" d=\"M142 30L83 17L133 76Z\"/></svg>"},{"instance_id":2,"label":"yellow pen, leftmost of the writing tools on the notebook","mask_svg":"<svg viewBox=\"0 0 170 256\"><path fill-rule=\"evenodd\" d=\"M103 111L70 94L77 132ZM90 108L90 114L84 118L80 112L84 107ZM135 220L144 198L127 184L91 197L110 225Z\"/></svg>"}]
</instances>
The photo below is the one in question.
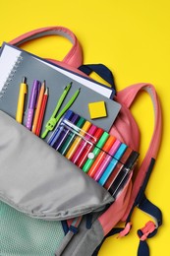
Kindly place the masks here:
<instances>
[{"instance_id":1,"label":"yellow pen, leftmost of the writing tools on the notebook","mask_svg":"<svg viewBox=\"0 0 170 256\"><path fill-rule=\"evenodd\" d=\"M26 102L25 100L26 100L27 94L28 94L27 79L26 77L24 77L20 85L20 93L19 93L17 113L16 113L16 120L19 123L23 122L23 115L25 111L25 102Z\"/></svg>"}]
</instances>

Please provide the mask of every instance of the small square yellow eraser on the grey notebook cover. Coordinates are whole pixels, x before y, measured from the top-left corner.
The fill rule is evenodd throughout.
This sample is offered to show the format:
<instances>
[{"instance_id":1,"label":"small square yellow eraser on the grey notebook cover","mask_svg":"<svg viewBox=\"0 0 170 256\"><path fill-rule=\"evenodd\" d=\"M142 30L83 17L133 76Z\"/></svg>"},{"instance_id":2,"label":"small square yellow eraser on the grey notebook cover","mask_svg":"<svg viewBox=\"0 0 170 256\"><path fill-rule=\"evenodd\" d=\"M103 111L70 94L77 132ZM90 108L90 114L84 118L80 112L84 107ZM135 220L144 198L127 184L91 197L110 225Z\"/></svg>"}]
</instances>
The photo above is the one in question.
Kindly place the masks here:
<instances>
[{"instance_id":1,"label":"small square yellow eraser on the grey notebook cover","mask_svg":"<svg viewBox=\"0 0 170 256\"><path fill-rule=\"evenodd\" d=\"M88 103L90 118L101 118L107 116L106 106L104 101Z\"/></svg>"}]
</instances>

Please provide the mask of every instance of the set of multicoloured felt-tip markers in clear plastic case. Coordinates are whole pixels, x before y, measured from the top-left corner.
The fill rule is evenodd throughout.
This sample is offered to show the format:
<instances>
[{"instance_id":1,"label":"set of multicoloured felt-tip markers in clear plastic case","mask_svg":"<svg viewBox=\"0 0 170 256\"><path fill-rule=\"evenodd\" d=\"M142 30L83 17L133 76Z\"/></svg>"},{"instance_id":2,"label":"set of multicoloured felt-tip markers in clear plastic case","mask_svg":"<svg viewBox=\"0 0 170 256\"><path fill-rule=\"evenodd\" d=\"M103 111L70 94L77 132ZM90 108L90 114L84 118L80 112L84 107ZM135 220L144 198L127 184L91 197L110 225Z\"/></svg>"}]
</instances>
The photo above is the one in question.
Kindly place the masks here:
<instances>
[{"instance_id":1,"label":"set of multicoloured felt-tip markers in clear plastic case","mask_svg":"<svg viewBox=\"0 0 170 256\"><path fill-rule=\"evenodd\" d=\"M109 181L109 184L107 183L106 187L115 197L118 188L121 189L126 176L138 160L139 154L126 144L121 143L114 136L106 132L103 135L102 129L88 121L85 121L82 128L78 127L76 124L78 118L80 116L68 110L56 127L56 131L54 131L56 138L51 141L50 145L55 150L58 150L64 144L69 134L74 133L75 139L65 157L78 166L83 166L82 161L85 162L85 158L88 160L94 159L87 171L87 175L101 186L104 186L108 182L109 177L113 175L112 173L114 173L114 178L112 177L112 180ZM98 142L99 138L102 143ZM98 156L96 158L93 150L94 147L98 149ZM125 171L125 166L127 166L128 171ZM123 174L121 173L122 171Z\"/></svg>"}]
</instances>

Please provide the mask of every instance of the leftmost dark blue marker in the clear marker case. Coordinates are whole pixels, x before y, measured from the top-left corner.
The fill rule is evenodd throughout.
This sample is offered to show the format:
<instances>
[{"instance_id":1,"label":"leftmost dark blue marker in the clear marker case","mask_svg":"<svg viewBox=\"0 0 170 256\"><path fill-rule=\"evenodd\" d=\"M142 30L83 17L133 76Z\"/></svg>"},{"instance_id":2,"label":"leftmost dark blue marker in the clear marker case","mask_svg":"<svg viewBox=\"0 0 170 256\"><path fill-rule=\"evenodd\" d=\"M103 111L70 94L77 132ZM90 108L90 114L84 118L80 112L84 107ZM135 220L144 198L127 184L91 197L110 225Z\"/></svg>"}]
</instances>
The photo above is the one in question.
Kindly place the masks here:
<instances>
[{"instance_id":1,"label":"leftmost dark blue marker in the clear marker case","mask_svg":"<svg viewBox=\"0 0 170 256\"><path fill-rule=\"evenodd\" d=\"M56 140L58 139L58 137L60 136L61 132L62 132L63 129L64 129L64 125L61 126L62 120L64 120L64 119L70 120L70 119L72 118L73 114L74 114L73 111L70 110L70 109L65 113L64 117L61 119L60 125L58 125L58 126L55 128L54 132L51 134L51 136L49 137L49 139L48 139L48 141L47 141L47 143L48 143L50 146L53 146L53 145L54 145L54 143L56 142Z\"/></svg>"}]
</instances>

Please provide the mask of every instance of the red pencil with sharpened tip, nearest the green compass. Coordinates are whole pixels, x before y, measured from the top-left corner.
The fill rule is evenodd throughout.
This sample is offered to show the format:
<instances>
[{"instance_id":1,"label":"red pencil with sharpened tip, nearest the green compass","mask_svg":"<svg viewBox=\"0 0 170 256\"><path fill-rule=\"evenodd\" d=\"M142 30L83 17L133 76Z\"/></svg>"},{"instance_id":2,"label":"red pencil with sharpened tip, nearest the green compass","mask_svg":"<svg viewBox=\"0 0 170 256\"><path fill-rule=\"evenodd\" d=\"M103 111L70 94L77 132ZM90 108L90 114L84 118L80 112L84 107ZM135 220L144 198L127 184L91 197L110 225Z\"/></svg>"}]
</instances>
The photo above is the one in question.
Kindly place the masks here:
<instances>
[{"instance_id":1,"label":"red pencil with sharpened tip, nearest the green compass","mask_svg":"<svg viewBox=\"0 0 170 256\"><path fill-rule=\"evenodd\" d=\"M44 118L44 114L45 114L45 108L46 108L47 99L48 99L48 88L46 88L45 94L43 95L42 104L41 104L41 108L40 108L40 111L39 111L39 116L38 116L36 130L35 130L35 134L37 136L40 135L40 131L41 131L41 127L42 127L42 122L43 122L43 118Z\"/></svg>"}]
</instances>

